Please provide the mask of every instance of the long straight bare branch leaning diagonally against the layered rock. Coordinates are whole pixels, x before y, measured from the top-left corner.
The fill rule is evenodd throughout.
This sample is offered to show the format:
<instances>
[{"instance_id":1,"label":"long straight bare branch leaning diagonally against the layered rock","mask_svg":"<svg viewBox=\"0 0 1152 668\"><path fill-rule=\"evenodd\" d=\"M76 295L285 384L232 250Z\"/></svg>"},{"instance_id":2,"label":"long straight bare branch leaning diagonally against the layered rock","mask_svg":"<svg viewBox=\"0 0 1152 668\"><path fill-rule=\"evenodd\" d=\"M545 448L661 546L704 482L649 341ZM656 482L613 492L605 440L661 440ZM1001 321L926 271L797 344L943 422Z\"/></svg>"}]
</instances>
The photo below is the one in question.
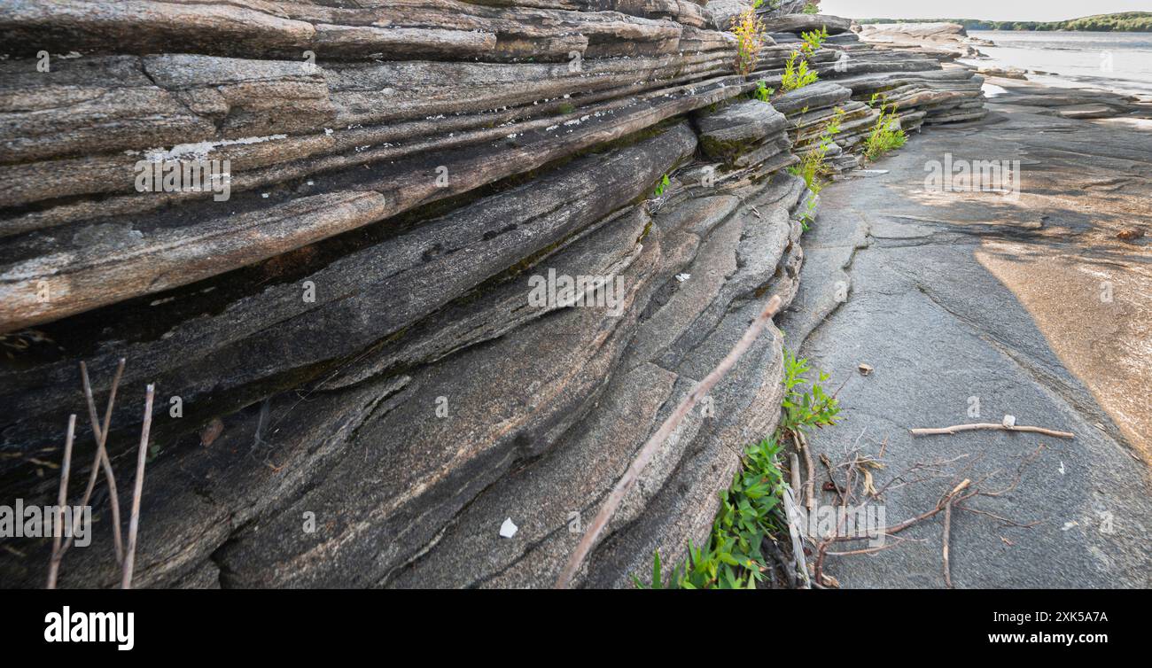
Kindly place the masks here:
<instances>
[{"instance_id":1,"label":"long straight bare branch leaning diagonally against the layered rock","mask_svg":"<svg viewBox=\"0 0 1152 668\"><path fill-rule=\"evenodd\" d=\"M772 320L772 317L776 314L776 311L780 310L781 303L782 302L779 295L768 301L767 305L764 306L764 311L761 311L760 314L752 320L752 324L749 326L748 331L744 332L744 335L740 339L740 341L736 342L736 346L733 347L728 355L720 360L720 364L717 365L711 373L704 377L704 380L702 380L692 389L692 392L690 392L688 396L680 402L676 410L672 411L668 419L664 420L660 428L652 434L647 442L644 443L639 453L636 454L636 458L632 460L631 465L628 466L628 470L624 471L624 475L612 489L612 493L608 494L604 506L600 507L600 510L596 514L592 523L589 524L584 536L576 545L576 551L568 560L568 564L556 578L556 589L568 589L568 584L571 582L571 578L584 564L584 559L588 556L588 553L591 552L592 546L596 545L600 533L608 525L608 521L612 519L613 515L615 515L620 503L624 500L624 495L628 494L628 491L631 489L632 485L639 478L641 471L643 471L644 466L646 466L652 457L655 456L660 446L664 445L668 437L670 437L676 427L680 426L684 416L687 416L688 412L692 410L697 403L699 403L700 398L708 394L712 387L715 386L715 384L719 382L720 379L736 365L736 362L743 357L744 352L752 347L752 343L760 336L764 327L770 320Z\"/></svg>"}]
</instances>

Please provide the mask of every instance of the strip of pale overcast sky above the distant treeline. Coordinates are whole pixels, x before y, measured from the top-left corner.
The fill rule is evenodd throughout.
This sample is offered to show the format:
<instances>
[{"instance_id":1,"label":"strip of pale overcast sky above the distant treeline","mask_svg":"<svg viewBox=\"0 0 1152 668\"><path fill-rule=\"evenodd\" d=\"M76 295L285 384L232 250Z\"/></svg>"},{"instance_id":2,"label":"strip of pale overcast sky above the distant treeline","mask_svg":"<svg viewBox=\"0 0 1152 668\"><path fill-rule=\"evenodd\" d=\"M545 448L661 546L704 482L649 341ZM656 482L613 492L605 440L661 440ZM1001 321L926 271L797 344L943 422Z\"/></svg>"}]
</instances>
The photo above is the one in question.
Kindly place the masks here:
<instances>
[{"instance_id":1,"label":"strip of pale overcast sky above the distant treeline","mask_svg":"<svg viewBox=\"0 0 1152 668\"><path fill-rule=\"evenodd\" d=\"M849 18L1062 21L1090 14L1152 12L1152 0L820 0L820 12Z\"/></svg>"}]
</instances>

